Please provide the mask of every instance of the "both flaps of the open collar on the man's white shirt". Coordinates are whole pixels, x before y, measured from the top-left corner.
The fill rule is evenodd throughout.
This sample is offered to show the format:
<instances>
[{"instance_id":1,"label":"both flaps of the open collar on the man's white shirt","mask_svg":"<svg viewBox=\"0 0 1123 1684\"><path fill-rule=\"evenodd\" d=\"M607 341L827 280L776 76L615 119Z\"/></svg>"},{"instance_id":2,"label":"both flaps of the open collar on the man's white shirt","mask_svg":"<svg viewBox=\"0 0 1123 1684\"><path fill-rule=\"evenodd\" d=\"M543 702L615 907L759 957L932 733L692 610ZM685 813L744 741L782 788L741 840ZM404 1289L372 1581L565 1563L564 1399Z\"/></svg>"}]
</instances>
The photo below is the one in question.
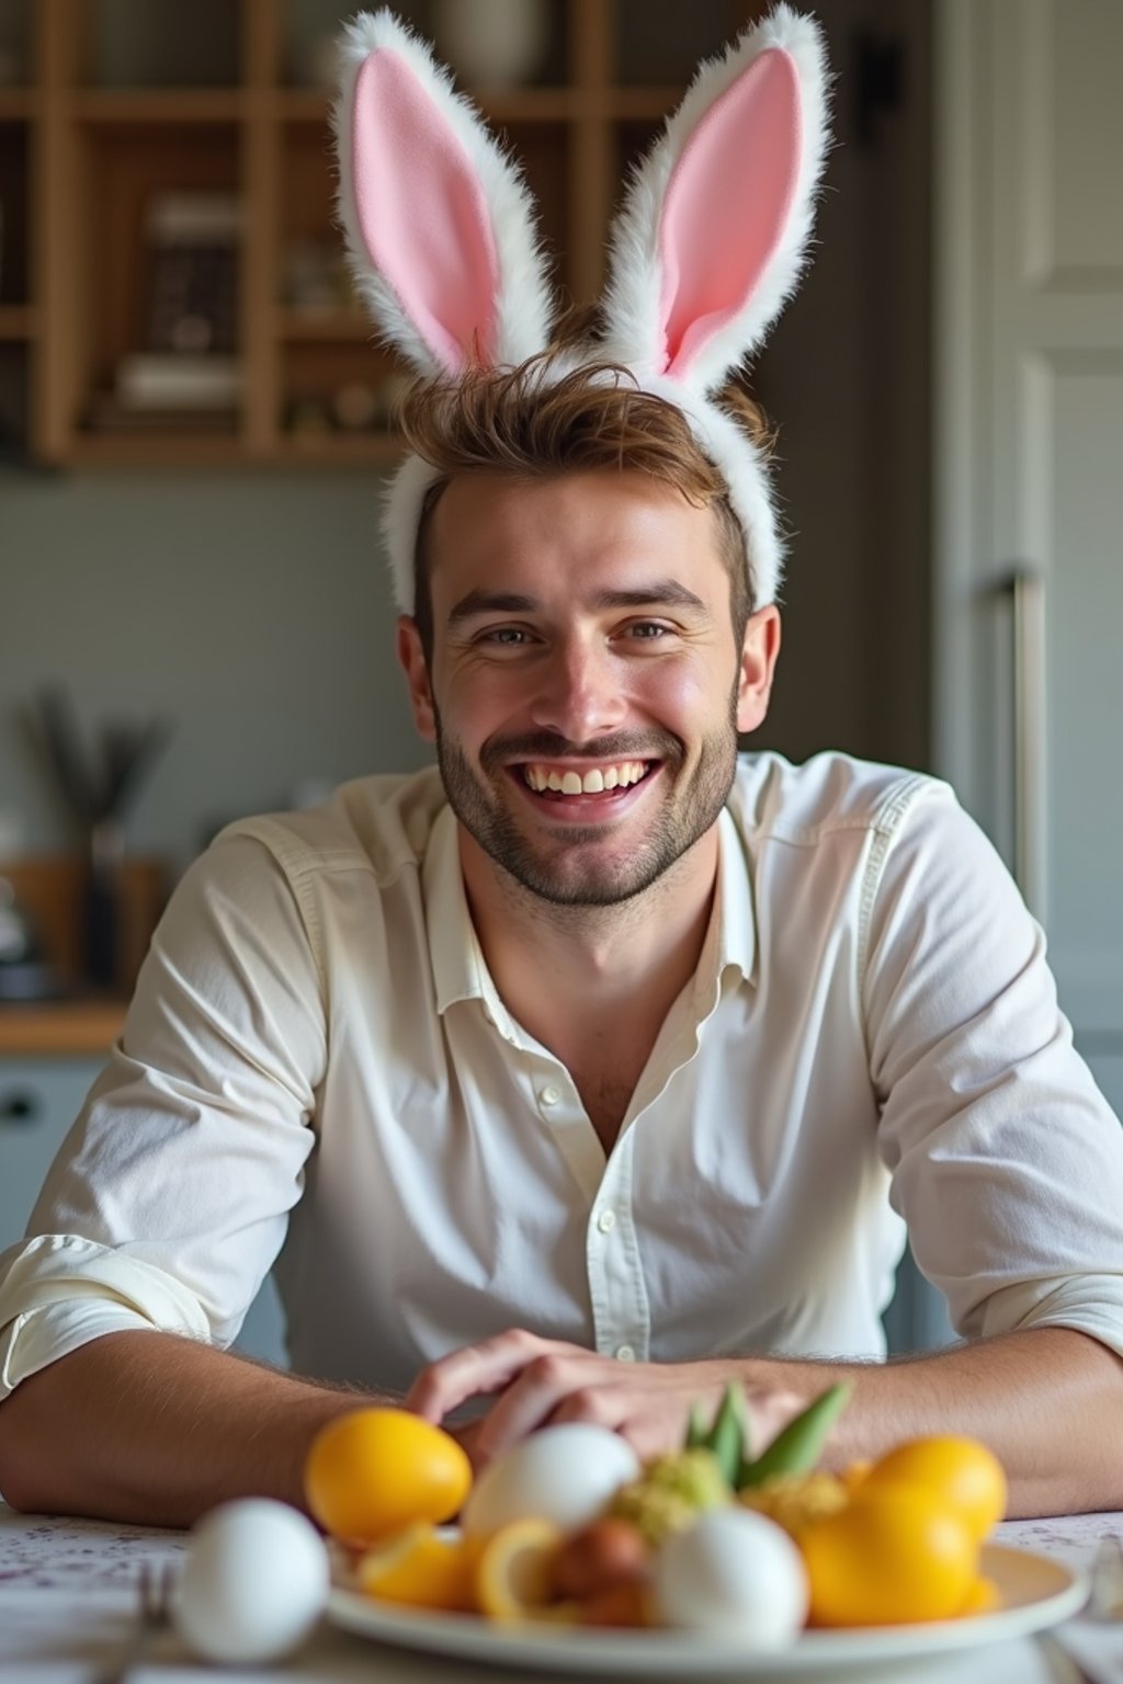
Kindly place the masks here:
<instances>
[{"instance_id":1,"label":"both flaps of the open collar on the man's white shirt","mask_svg":"<svg viewBox=\"0 0 1123 1684\"><path fill-rule=\"evenodd\" d=\"M505 1019L492 973L476 936L460 867L456 815L438 813L423 866L423 891L429 958L439 1015L456 1000L483 1000L495 1019ZM729 808L717 818L717 894L695 972L702 1015L716 1004L726 972L756 985L756 918L753 884L741 834Z\"/></svg>"}]
</instances>

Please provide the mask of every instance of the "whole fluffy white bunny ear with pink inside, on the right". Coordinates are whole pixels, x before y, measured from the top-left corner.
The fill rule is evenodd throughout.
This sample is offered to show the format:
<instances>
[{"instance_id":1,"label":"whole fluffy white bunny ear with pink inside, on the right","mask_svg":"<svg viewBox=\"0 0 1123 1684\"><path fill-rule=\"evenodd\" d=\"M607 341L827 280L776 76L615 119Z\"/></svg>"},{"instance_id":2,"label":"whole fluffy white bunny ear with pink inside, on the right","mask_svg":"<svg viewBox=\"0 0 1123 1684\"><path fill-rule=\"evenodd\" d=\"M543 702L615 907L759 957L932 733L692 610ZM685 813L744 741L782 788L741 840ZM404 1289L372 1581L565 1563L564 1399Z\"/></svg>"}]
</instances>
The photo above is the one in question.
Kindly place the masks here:
<instances>
[{"instance_id":1,"label":"whole fluffy white bunny ear with pink inside, on the right","mask_svg":"<svg viewBox=\"0 0 1123 1684\"><path fill-rule=\"evenodd\" d=\"M827 57L778 5L704 64L613 229L604 355L705 392L795 291L827 152Z\"/></svg>"}]
</instances>

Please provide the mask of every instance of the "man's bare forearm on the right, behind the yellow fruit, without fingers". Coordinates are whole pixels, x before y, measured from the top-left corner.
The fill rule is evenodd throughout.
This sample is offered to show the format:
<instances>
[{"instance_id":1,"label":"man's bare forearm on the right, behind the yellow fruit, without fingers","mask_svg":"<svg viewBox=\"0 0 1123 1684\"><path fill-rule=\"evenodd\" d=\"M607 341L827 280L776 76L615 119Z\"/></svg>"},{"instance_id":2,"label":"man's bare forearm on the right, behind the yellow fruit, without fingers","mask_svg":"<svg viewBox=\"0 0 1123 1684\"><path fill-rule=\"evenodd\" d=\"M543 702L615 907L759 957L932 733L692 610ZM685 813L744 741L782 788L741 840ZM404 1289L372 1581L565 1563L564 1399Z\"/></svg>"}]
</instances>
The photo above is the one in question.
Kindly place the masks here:
<instances>
[{"instance_id":1,"label":"man's bare forearm on the right, behind the yellow fruit, without fingers","mask_svg":"<svg viewBox=\"0 0 1123 1684\"><path fill-rule=\"evenodd\" d=\"M781 1386L805 1398L833 1379L854 1381L830 1467L904 1438L966 1433L1002 1460L1010 1517L1123 1509L1123 1361L1071 1329L1025 1329L886 1364L763 1357L741 1367L749 1389Z\"/></svg>"}]
</instances>

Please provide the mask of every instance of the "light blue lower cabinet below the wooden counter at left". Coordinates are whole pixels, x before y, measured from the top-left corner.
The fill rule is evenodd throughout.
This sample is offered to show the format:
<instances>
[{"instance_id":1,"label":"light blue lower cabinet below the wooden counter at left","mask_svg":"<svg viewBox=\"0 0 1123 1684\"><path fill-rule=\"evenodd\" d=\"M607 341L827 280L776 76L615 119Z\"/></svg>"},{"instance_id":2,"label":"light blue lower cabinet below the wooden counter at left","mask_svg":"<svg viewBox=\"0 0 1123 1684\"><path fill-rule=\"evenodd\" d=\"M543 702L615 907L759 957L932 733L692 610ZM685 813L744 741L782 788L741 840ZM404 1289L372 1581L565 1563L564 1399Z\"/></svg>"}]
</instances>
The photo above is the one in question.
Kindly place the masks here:
<instances>
[{"instance_id":1,"label":"light blue lower cabinet below the wooden counter at left","mask_svg":"<svg viewBox=\"0 0 1123 1684\"><path fill-rule=\"evenodd\" d=\"M51 1162L77 1116L101 1059L0 1058L0 1251L27 1226ZM269 1276L234 1349L286 1366L285 1317Z\"/></svg>"}]
</instances>

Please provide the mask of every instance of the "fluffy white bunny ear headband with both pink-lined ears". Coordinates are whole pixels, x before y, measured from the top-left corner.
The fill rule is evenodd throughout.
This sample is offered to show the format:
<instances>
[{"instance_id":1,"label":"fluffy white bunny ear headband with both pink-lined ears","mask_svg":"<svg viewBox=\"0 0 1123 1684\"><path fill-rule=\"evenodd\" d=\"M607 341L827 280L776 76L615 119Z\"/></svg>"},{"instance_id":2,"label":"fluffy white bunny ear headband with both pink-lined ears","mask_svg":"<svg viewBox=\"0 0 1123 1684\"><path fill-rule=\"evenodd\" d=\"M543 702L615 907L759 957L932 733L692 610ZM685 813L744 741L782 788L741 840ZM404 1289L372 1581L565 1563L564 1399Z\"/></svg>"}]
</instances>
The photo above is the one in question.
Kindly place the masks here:
<instances>
[{"instance_id":1,"label":"fluffy white bunny ear headband with both pink-lined ears","mask_svg":"<svg viewBox=\"0 0 1123 1684\"><path fill-rule=\"evenodd\" d=\"M404 357L455 381L547 350L554 296L534 202L448 71L389 10L347 27L335 135L352 271ZM699 67L631 179L611 231L603 340L547 365L559 379L583 360L623 364L687 416L746 534L756 608L774 601L783 571L768 470L711 394L798 285L825 152L822 35L778 5ZM387 495L402 613L412 613L421 505L436 478L407 456Z\"/></svg>"}]
</instances>

